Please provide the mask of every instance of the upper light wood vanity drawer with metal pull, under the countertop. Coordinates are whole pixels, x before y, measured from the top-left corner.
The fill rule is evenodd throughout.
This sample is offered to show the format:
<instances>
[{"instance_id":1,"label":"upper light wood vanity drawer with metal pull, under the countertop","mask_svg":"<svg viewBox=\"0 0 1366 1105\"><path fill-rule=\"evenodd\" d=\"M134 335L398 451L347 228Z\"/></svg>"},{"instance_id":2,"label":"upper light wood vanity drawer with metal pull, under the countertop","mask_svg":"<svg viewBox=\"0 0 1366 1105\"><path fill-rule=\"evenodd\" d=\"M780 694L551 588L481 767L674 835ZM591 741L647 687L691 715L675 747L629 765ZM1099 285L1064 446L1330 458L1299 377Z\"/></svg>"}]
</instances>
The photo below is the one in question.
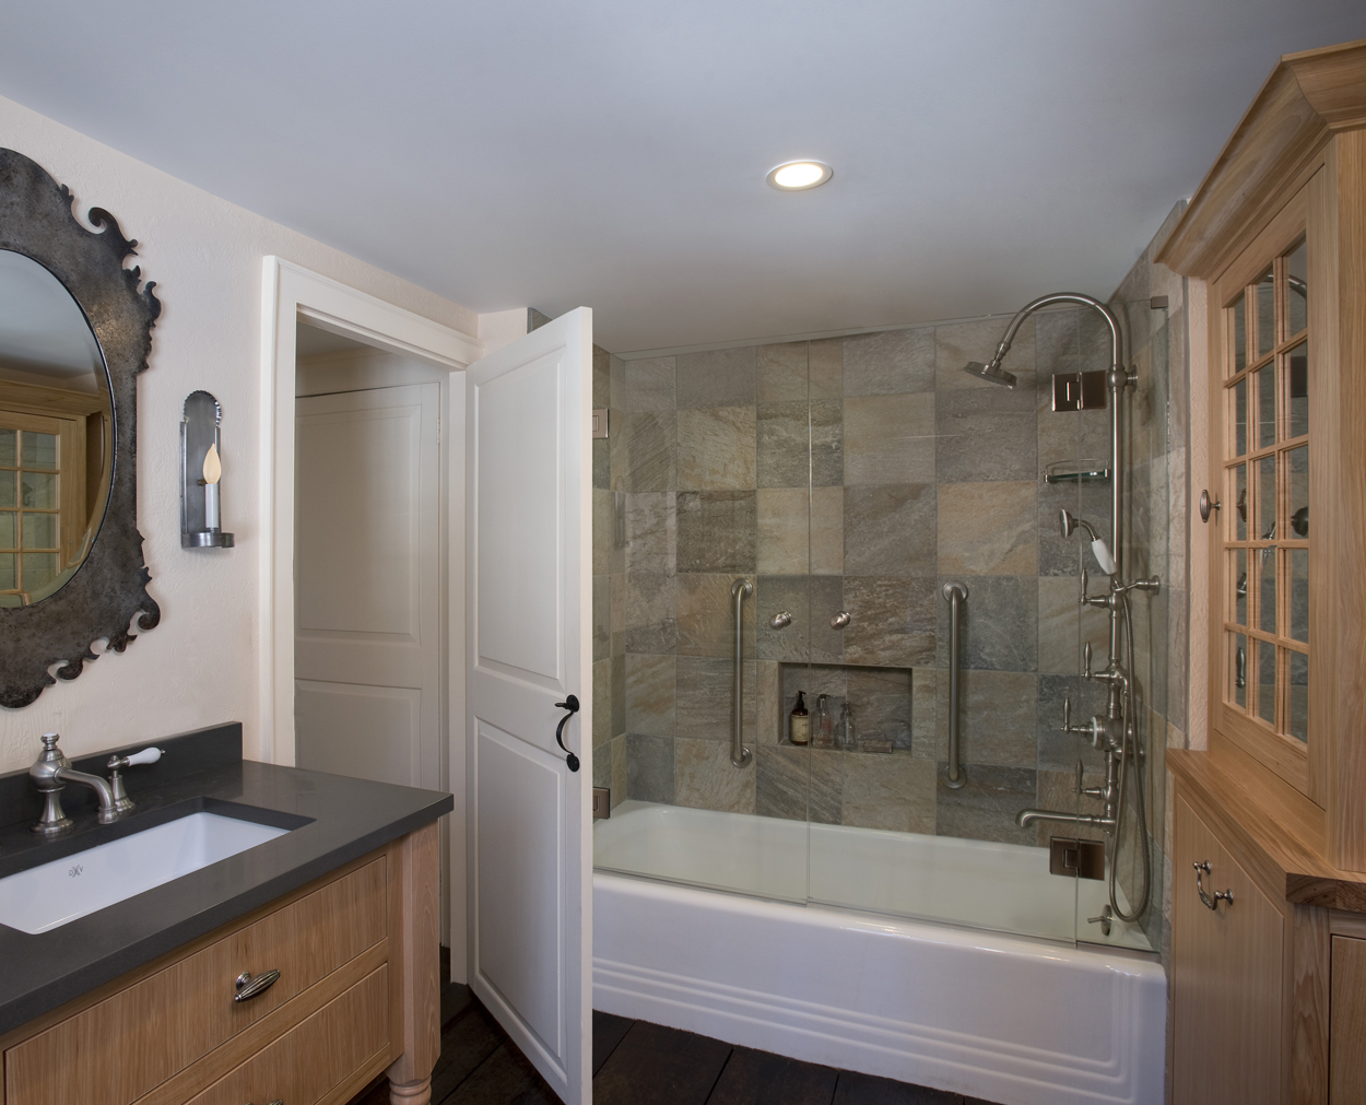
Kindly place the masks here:
<instances>
[{"instance_id":1,"label":"upper light wood vanity drawer with metal pull, under the countertop","mask_svg":"<svg viewBox=\"0 0 1366 1105\"><path fill-rule=\"evenodd\" d=\"M384 940L387 873L378 856L10 1048L5 1105L137 1101ZM273 986L234 1001L239 974L269 970Z\"/></svg>"}]
</instances>

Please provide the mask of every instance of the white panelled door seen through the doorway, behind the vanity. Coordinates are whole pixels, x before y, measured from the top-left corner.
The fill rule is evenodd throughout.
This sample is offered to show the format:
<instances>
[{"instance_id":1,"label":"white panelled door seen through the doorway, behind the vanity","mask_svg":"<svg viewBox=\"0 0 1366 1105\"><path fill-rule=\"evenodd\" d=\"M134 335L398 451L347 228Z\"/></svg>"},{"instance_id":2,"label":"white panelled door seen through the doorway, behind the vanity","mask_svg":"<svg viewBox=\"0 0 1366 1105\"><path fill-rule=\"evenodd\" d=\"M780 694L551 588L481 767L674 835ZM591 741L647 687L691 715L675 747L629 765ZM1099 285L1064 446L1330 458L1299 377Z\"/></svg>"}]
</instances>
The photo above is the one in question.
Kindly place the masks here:
<instances>
[{"instance_id":1,"label":"white panelled door seen through the doorway, behind the vanity","mask_svg":"<svg viewBox=\"0 0 1366 1105\"><path fill-rule=\"evenodd\" d=\"M295 404L295 762L440 787L441 385Z\"/></svg>"}]
</instances>

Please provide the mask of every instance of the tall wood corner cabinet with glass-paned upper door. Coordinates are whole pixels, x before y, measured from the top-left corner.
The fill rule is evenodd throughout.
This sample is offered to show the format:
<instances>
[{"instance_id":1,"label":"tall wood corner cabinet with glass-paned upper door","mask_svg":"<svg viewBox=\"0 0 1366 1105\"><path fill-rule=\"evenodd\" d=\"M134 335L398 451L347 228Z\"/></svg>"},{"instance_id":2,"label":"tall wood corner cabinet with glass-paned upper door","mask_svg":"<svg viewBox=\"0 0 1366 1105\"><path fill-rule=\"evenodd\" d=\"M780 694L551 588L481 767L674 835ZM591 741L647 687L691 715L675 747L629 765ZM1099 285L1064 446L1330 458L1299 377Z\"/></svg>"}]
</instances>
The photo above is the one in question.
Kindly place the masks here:
<instances>
[{"instance_id":1,"label":"tall wood corner cabinet with glass-paned upper door","mask_svg":"<svg viewBox=\"0 0 1366 1105\"><path fill-rule=\"evenodd\" d=\"M1281 59L1157 260L1208 294L1173 1101L1366 1102L1366 42Z\"/></svg>"}]
</instances>

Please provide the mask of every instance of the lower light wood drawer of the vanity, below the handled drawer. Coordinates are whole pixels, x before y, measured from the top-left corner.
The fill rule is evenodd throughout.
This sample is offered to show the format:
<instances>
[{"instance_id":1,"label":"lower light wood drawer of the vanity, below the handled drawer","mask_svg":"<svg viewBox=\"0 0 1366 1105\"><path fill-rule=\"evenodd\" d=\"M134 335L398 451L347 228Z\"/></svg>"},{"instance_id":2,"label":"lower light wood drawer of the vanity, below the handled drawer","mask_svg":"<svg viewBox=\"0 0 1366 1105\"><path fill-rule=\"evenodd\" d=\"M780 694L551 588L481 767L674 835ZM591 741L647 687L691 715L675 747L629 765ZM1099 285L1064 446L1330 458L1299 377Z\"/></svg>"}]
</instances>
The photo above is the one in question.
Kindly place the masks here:
<instances>
[{"instance_id":1,"label":"lower light wood drawer of the vanity, below the handled drawer","mask_svg":"<svg viewBox=\"0 0 1366 1105\"><path fill-rule=\"evenodd\" d=\"M316 1105L389 1046L388 966L332 998L186 1105Z\"/></svg>"}]
</instances>

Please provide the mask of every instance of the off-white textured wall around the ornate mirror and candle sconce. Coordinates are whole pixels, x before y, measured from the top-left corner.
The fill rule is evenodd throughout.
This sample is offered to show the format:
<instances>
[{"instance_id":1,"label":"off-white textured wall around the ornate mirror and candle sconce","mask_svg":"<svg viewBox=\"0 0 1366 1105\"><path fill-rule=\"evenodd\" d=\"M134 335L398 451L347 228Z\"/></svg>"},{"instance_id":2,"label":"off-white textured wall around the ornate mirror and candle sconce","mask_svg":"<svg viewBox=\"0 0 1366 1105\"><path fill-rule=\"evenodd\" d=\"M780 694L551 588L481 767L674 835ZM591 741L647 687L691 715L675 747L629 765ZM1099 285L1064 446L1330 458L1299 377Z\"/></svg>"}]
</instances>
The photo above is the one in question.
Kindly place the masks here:
<instances>
[{"instance_id":1,"label":"off-white textured wall around the ornate mirror and candle sconce","mask_svg":"<svg viewBox=\"0 0 1366 1105\"><path fill-rule=\"evenodd\" d=\"M242 721L254 757L261 258L279 254L470 335L478 316L4 98L0 146L67 184L82 216L92 206L112 212L141 243L137 264L161 300L150 367L138 382L138 529L161 624L31 706L0 709L0 772L27 766L48 729L81 754ZM180 548L180 407L195 388L223 403L223 524L236 534L235 549Z\"/></svg>"}]
</instances>

